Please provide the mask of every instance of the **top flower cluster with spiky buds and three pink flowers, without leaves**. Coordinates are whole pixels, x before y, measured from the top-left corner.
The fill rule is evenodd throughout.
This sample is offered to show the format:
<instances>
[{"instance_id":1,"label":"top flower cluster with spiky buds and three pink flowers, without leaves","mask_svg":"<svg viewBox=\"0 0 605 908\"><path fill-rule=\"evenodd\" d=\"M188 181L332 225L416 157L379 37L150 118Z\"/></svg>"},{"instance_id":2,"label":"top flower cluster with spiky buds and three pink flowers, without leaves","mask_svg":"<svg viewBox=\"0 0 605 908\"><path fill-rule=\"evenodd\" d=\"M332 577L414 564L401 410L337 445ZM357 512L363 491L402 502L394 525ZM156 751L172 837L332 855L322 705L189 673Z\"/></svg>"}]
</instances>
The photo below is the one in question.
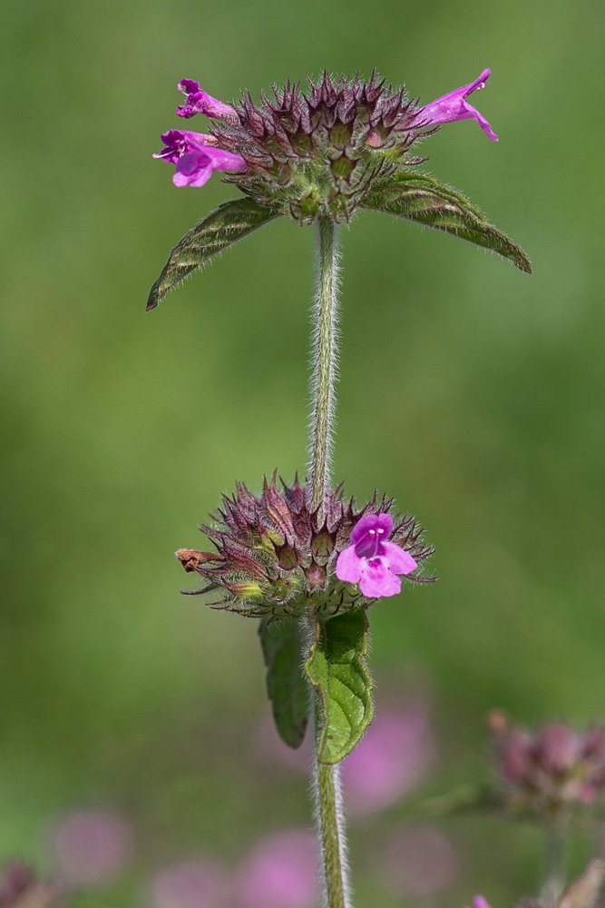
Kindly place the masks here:
<instances>
[{"instance_id":1,"label":"top flower cluster with spiky buds and three pink flowers, without leaves","mask_svg":"<svg viewBox=\"0 0 605 908\"><path fill-rule=\"evenodd\" d=\"M230 183L276 214L302 223L318 215L346 221L377 183L421 159L411 146L442 123L475 119L494 141L497 136L467 101L483 88L490 70L473 83L422 106L405 89L386 86L377 74L336 81L324 73L309 80L307 94L298 84L273 89L254 104L243 94L239 104L223 104L200 84L183 79L186 103L181 117L205 114L214 123L210 135L171 130L156 157L176 164L178 186L201 186L215 170L230 173Z\"/></svg>"}]
</instances>

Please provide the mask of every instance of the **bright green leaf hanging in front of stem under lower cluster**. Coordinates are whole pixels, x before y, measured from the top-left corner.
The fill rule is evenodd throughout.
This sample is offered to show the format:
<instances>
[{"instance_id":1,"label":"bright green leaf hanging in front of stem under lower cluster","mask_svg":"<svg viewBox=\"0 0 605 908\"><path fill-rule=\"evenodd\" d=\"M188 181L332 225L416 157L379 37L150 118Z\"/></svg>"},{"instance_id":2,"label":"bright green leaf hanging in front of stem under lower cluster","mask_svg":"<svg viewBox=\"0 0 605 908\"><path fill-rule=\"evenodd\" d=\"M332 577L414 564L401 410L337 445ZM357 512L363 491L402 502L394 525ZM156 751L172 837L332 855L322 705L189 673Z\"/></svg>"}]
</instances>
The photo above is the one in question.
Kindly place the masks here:
<instances>
[{"instance_id":1,"label":"bright green leaf hanging in front of stem under lower cluster","mask_svg":"<svg viewBox=\"0 0 605 908\"><path fill-rule=\"evenodd\" d=\"M344 760L372 721L372 678L364 664L367 645L364 608L317 622L305 672L317 694L319 763Z\"/></svg>"}]
</instances>

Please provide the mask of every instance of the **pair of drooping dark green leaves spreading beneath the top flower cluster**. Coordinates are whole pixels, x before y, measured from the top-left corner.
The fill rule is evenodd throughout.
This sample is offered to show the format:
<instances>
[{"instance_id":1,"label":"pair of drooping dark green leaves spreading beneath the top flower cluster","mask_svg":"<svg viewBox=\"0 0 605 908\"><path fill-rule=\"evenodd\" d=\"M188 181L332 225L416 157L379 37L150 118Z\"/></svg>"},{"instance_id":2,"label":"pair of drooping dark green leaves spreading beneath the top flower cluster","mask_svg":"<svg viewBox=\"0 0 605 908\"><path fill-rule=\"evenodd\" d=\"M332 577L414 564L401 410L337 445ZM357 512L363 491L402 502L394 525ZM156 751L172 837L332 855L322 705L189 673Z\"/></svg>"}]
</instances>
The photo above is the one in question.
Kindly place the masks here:
<instances>
[{"instance_id":1,"label":"pair of drooping dark green leaves spreading beneath the top flower cluster","mask_svg":"<svg viewBox=\"0 0 605 908\"><path fill-rule=\"evenodd\" d=\"M521 271L532 271L522 248L496 230L470 199L426 173L399 173L394 180L371 190L361 207L452 233L498 252ZM162 297L192 271L278 216L278 212L248 198L224 202L215 212L210 212L172 250L160 277L151 287L147 311L155 309Z\"/></svg>"}]
</instances>

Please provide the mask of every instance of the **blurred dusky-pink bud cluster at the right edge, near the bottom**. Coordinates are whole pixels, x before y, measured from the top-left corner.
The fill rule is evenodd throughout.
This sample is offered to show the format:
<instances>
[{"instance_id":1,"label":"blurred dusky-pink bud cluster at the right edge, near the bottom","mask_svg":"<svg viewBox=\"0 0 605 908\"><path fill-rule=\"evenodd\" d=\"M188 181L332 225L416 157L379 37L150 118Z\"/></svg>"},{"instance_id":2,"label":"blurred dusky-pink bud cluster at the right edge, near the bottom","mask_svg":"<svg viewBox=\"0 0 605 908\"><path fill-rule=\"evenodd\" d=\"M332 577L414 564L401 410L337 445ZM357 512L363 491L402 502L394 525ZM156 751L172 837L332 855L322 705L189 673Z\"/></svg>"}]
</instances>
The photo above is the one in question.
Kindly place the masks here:
<instances>
[{"instance_id":1,"label":"blurred dusky-pink bud cluster at the right edge, near the bottom","mask_svg":"<svg viewBox=\"0 0 605 908\"><path fill-rule=\"evenodd\" d=\"M560 823L605 795L605 729L577 732L551 722L532 734L499 711L490 714L489 724L512 809L527 807Z\"/></svg>"}]
</instances>

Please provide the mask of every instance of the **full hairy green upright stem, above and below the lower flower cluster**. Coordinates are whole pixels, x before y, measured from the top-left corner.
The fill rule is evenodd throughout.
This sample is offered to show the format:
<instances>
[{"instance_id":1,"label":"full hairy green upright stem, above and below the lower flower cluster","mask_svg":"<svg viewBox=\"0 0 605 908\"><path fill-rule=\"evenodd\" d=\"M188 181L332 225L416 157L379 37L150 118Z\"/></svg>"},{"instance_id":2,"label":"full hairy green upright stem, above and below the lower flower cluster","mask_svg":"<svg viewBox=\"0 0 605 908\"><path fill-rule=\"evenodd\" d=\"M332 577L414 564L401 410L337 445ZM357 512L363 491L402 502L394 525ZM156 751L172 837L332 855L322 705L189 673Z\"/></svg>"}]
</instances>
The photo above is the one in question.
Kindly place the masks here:
<instances>
[{"instance_id":1,"label":"full hairy green upright stem, above and below the lower flower cluster","mask_svg":"<svg viewBox=\"0 0 605 908\"><path fill-rule=\"evenodd\" d=\"M311 505L322 508L330 484L330 455L337 381L338 252L337 226L330 217L318 220L317 290L313 309L313 378L311 390ZM311 696L315 698L312 692ZM338 766L314 760L317 833L322 861L324 905L350 908L346 880L346 838Z\"/></svg>"}]
</instances>

